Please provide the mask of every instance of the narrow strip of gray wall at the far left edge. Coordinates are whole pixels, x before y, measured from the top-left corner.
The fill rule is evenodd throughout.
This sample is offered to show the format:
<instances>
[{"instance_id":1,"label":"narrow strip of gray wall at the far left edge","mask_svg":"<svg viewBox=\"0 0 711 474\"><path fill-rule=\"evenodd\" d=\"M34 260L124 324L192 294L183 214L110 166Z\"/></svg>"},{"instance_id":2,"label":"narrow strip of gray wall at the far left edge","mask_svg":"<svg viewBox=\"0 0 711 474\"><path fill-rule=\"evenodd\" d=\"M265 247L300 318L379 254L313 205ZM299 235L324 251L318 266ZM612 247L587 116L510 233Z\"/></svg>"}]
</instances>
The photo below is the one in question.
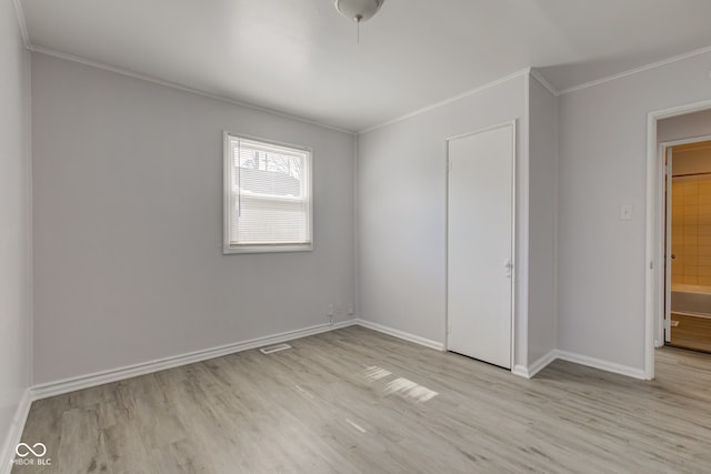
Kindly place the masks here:
<instances>
[{"instance_id":1,"label":"narrow strip of gray wall at the far left edge","mask_svg":"<svg viewBox=\"0 0 711 474\"><path fill-rule=\"evenodd\" d=\"M0 1L0 458L30 385L31 263L29 53ZM4 468L4 466L2 466Z\"/></svg>"}]
</instances>

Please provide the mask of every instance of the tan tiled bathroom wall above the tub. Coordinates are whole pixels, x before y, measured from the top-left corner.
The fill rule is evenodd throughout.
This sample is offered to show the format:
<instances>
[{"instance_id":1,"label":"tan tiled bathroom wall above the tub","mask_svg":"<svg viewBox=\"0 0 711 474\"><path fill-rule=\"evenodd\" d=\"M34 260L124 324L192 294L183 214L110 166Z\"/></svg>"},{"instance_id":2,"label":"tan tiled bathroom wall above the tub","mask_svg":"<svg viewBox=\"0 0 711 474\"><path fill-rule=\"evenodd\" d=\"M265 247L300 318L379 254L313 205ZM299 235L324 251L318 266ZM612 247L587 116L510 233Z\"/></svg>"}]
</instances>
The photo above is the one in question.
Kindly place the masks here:
<instances>
[{"instance_id":1,"label":"tan tiled bathroom wall above the tub","mask_svg":"<svg viewBox=\"0 0 711 474\"><path fill-rule=\"evenodd\" d=\"M711 174L673 178L672 283L711 286Z\"/></svg>"}]
</instances>

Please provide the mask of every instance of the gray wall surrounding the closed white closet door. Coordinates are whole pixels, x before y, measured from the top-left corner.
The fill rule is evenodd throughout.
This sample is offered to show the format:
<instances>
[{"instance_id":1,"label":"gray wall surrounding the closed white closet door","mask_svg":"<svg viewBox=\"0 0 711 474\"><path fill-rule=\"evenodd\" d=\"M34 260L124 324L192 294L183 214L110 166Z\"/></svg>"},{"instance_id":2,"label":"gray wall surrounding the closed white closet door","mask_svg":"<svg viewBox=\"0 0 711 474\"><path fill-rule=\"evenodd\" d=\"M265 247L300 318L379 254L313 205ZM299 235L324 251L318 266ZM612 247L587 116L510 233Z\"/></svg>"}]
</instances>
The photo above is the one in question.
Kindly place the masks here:
<instances>
[{"instance_id":1,"label":"gray wall surrounding the closed white closet door","mask_svg":"<svg viewBox=\"0 0 711 474\"><path fill-rule=\"evenodd\" d=\"M519 210L528 209L527 78L361 134L358 142L360 315L444 343L447 138L518 119ZM528 221L519 212L519 256ZM527 259L518 262L517 361L525 364L522 302Z\"/></svg>"}]
</instances>

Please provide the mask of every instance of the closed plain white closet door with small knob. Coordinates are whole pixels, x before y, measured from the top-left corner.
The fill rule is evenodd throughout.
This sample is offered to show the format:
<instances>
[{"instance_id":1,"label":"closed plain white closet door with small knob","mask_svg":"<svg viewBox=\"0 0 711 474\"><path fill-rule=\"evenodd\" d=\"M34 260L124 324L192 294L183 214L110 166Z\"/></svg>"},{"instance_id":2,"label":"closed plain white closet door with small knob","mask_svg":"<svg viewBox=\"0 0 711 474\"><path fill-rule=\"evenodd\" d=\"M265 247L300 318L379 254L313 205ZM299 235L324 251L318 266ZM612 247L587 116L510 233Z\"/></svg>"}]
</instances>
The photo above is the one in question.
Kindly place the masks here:
<instances>
[{"instance_id":1,"label":"closed plain white closet door with small knob","mask_svg":"<svg viewBox=\"0 0 711 474\"><path fill-rule=\"evenodd\" d=\"M448 149L447 347L511 369L514 124Z\"/></svg>"}]
</instances>

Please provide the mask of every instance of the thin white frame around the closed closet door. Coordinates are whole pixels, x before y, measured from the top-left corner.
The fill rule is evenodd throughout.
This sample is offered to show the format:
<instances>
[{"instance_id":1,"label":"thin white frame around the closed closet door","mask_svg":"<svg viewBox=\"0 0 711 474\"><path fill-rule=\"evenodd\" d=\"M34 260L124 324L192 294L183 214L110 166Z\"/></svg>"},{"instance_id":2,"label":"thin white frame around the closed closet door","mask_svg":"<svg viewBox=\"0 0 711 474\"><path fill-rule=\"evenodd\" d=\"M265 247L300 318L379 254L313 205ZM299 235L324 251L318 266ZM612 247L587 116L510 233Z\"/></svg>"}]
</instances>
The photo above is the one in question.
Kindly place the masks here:
<instances>
[{"instance_id":1,"label":"thin white frame around the closed closet door","mask_svg":"<svg viewBox=\"0 0 711 474\"><path fill-rule=\"evenodd\" d=\"M518 251L517 251L517 161L518 161L518 153L517 153L517 140L515 140L515 134L517 134L517 120L509 120L507 122L503 123L498 123L495 125L490 125L490 127L484 127L483 129L478 129L471 132L465 132L465 133L460 133L457 135L452 135L452 137L448 137L445 139L447 142L447 153L444 157L444 170L445 170L445 177L447 177L447 193L445 193L445 212L444 212L444 242L449 242L449 142L452 140L457 140L457 139L461 139L464 137L469 137L469 135L475 135L479 133L484 133L484 132L490 132L492 130L497 130L497 129L501 129L503 127L511 127L512 130L512 151L513 151L513 157L512 160L513 162L511 163L511 260L512 260L512 266L511 266L511 369L510 371L513 371L513 369L515 367L515 313L517 313L517 306L515 306L515 295L517 295L517 288L518 288L518 281L517 281L517 269L518 269ZM444 294L449 294L449 268L448 268L448 262L449 262L449 245L445 244L444 245ZM444 297L444 351L449 351L449 302L447 301L447 296Z\"/></svg>"}]
</instances>

